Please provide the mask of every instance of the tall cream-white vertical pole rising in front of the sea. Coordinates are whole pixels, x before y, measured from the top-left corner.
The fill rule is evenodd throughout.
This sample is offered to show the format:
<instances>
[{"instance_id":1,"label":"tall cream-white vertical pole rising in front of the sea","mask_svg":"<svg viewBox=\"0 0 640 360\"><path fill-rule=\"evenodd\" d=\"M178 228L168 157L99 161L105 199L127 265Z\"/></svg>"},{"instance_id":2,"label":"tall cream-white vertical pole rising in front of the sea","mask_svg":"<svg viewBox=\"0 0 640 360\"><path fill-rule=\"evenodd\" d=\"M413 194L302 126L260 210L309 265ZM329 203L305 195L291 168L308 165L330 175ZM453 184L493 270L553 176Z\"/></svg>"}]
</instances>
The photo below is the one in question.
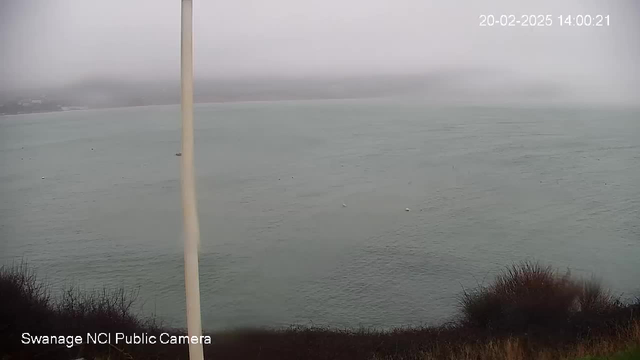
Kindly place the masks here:
<instances>
[{"instance_id":1,"label":"tall cream-white vertical pole rising in front of the sea","mask_svg":"<svg viewBox=\"0 0 640 360\"><path fill-rule=\"evenodd\" d=\"M184 280L189 337L202 335L198 248L200 229L193 167L193 0L182 0L181 87L182 87L182 214L184 222ZM189 343L189 359L202 360L200 342Z\"/></svg>"}]
</instances>

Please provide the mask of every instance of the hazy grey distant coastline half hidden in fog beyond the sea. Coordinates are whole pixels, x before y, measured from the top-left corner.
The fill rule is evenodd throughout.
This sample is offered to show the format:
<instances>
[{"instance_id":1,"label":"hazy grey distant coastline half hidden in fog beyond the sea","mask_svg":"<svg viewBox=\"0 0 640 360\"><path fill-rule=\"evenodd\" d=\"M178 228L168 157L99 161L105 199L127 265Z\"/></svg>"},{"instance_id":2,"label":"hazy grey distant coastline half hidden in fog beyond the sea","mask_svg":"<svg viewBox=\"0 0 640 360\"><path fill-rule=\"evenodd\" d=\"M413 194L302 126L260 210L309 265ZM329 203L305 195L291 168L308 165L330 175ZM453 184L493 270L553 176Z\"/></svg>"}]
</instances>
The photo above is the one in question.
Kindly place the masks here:
<instances>
[{"instance_id":1,"label":"hazy grey distant coastline half hidden in fog beyond the sea","mask_svg":"<svg viewBox=\"0 0 640 360\"><path fill-rule=\"evenodd\" d=\"M500 75L500 76L498 76ZM501 86L489 86L498 76ZM472 81L473 80L473 81ZM194 102L296 101L408 97L434 104L637 104L590 99L556 83L510 78L487 71L427 74L200 79ZM110 109L180 103L176 81L86 79L72 84L0 91L0 115Z\"/></svg>"}]
</instances>

